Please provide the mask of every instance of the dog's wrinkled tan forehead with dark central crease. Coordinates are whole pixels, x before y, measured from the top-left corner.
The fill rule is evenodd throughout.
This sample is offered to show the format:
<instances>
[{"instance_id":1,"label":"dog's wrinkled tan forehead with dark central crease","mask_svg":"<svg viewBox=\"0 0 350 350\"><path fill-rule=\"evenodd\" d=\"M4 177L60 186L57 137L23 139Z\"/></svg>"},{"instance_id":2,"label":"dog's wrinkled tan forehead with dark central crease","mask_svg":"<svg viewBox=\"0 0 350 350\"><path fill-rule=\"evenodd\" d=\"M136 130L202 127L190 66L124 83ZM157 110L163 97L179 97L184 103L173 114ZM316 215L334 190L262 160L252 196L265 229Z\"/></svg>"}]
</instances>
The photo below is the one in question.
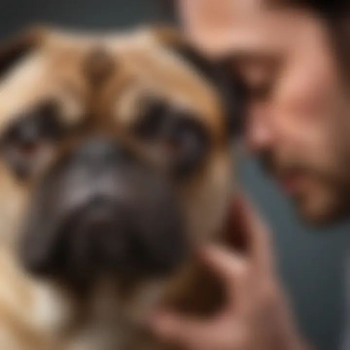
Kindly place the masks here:
<instances>
[{"instance_id":1,"label":"dog's wrinkled tan forehead with dark central crease","mask_svg":"<svg viewBox=\"0 0 350 350\"><path fill-rule=\"evenodd\" d=\"M101 36L37 30L21 40L0 51L0 130L48 102L64 123L94 117L123 127L157 100L191 112L213 134L224 132L213 87L154 30Z\"/></svg>"}]
</instances>

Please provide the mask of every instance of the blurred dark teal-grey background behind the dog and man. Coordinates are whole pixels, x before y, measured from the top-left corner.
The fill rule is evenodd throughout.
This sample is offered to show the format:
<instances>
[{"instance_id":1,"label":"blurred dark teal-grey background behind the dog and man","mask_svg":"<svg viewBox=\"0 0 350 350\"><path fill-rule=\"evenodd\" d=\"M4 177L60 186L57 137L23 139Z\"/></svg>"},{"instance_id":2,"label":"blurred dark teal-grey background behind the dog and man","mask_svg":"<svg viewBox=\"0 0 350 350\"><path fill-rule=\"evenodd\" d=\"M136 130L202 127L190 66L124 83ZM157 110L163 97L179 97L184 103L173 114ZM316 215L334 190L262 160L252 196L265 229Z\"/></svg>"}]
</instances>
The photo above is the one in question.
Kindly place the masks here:
<instances>
[{"instance_id":1,"label":"blurred dark teal-grey background behind the dog and man","mask_svg":"<svg viewBox=\"0 0 350 350\"><path fill-rule=\"evenodd\" d=\"M155 0L1 0L0 39L35 22L109 30L161 19ZM297 221L274 183L244 152L239 155L238 171L246 191L273 229L280 275L300 329L315 349L337 349L344 324L350 225L344 223L315 234Z\"/></svg>"}]
</instances>

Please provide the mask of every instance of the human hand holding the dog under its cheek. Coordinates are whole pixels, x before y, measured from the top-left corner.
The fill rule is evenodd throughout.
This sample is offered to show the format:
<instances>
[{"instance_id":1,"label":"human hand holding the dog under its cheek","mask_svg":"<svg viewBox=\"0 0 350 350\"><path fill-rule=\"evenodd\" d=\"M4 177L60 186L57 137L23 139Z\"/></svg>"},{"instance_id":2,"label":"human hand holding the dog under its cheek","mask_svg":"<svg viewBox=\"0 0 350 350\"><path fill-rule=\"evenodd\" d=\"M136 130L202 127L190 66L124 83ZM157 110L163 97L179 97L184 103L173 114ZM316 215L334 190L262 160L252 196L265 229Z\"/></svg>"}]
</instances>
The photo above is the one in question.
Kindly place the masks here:
<instances>
[{"instance_id":1,"label":"human hand holding the dog under its cheek","mask_svg":"<svg viewBox=\"0 0 350 350\"><path fill-rule=\"evenodd\" d=\"M235 210L236 224L246 234L246 252L210 246L201 254L225 284L226 307L210 320L161 311L153 319L154 332L190 350L306 349L274 271L266 227L245 202Z\"/></svg>"}]
</instances>

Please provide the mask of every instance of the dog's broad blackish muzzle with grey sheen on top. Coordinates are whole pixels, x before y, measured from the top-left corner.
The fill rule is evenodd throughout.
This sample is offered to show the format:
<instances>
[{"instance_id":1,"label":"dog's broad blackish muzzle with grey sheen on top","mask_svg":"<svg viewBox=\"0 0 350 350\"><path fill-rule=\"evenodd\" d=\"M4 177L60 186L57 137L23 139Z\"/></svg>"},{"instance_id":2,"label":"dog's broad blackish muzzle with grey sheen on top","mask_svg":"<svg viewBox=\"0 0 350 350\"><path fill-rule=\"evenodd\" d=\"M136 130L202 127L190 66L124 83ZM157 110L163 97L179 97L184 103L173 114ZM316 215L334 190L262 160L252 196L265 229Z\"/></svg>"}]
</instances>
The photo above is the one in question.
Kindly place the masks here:
<instances>
[{"instance_id":1,"label":"dog's broad blackish muzzle with grey sheen on top","mask_svg":"<svg viewBox=\"0 0 350 350\"><path fill-rule=\"evenodd\" d=\"M115 140L84 141L34 193L20 256L31 273L72 281L158 277L186 255L166 177Z\"/></svg>"}]
</instances>

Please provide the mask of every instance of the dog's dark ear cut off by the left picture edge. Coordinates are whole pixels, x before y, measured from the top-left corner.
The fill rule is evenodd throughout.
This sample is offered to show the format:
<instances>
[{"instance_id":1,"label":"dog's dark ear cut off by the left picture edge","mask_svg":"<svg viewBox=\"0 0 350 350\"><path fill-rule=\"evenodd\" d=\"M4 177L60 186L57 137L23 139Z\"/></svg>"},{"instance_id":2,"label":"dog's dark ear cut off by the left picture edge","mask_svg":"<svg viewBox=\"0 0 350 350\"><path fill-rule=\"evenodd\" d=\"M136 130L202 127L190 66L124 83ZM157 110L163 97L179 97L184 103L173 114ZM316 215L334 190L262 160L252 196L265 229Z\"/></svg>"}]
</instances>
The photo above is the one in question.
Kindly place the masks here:
<instances>
[{"instance_id":1,"label":"dog's dark ear cut off by the left picture edge","mask_svg":"<svg viewBox=\"0 0 350 350\"><path fill-rule=\"evenodd\" d=\"M0 79L22 56L42 44L45 32L44 27L31 27L0 42Z\"/></svg>"}]
</instances>

